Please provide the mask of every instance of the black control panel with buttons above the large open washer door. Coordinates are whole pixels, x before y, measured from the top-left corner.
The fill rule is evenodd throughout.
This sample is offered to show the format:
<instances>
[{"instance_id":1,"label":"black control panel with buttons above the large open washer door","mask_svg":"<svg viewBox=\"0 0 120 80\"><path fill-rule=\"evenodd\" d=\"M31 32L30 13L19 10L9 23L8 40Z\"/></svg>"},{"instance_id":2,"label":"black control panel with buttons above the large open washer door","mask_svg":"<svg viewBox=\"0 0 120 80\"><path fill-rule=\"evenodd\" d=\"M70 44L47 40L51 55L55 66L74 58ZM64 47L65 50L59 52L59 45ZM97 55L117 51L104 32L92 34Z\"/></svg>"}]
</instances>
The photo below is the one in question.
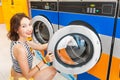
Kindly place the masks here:
<instances>
[{"instance_id":1,"label":"black control panel with buttons above the large open washer door","mask_svg":"<svg viewBox=\"0 0 120 80\"><path fill-rule=\"evenodd\" d=\"M60 2L59 8L65 12L114 16L116 2Z\"/></svg>"}]
</instances>

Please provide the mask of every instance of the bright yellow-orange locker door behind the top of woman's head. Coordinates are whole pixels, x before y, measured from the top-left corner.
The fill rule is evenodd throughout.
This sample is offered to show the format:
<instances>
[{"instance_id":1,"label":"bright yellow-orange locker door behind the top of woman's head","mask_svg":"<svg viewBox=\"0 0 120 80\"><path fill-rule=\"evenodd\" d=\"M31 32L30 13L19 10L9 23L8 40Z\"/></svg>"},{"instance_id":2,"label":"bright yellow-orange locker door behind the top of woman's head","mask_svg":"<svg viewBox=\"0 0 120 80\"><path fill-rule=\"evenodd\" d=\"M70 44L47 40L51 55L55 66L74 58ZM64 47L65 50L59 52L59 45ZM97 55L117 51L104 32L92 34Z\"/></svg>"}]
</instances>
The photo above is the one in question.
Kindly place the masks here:
<instances>
[{"instance_id":1,"label":"bright yellow-orange locker door behind the top of woman's head","mask_svg":"<svg viewBox=\"0 0 120 80\"><path fill-rule=\"evenodd\" d=\"M10 18L18 12L24 12L27 15L28 12L28 0L2 0L3 5L3 13L4 13L4 21L9 30L9 22Z\"/></svg>"}]
</instances>

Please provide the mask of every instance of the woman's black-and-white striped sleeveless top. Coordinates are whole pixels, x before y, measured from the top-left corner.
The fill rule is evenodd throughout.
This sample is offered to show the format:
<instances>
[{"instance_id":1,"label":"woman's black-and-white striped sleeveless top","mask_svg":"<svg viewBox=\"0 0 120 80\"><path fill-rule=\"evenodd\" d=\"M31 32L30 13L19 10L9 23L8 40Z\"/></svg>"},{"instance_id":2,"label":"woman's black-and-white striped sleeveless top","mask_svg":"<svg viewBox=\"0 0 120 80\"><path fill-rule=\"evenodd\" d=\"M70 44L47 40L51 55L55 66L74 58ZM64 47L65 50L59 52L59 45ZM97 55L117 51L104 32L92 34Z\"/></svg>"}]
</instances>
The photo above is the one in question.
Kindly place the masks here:
<instances>
[{"instance_id":1,"label":"woman's black-and-white striped sleeveless top","mask_svg":"<svg viewBox=\"0 0 120 80\"><path fill-rule=\"evenodd\" d=\"M28 65L29 65L29 68L31 69L32 68L32 62L33 62L33 55L30 51L30 47L28 46L27 43L23 43L23 42L19 42L19 41L12 41L11 42L11 45L10 45L10 53L11 53L11 58L12 58L12 62L13 62L13 69L18 72L18 73L22 73L21 69L20 69L20 66L19 66L19 63L18 61L15 59L14 55L13 55L13 47L16 45L16 44L21 44L23 45L23 47L25 47L26 51L27 51L27 60L28 60Z\"/></svg>"}]
</instances>

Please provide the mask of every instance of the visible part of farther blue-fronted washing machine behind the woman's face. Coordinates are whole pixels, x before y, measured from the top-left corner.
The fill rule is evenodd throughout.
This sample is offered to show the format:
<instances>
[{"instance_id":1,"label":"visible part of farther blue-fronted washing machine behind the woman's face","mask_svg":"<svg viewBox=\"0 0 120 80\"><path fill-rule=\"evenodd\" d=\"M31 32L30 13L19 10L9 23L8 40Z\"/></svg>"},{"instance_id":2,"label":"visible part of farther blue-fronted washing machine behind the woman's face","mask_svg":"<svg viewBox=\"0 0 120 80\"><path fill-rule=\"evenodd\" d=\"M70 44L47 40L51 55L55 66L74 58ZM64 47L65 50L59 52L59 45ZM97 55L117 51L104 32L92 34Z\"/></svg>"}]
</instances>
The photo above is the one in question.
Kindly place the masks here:
<instances>
[{"instance_id":1,"label":"visible part of farther blue-fronted washing machine behind the woman's face","mask_svg":"<svg viewBox=\"0 0 120 80\"><path fill-rule=\"evenodd\" d=\"M47 43L59 28L57 0L30 0L33 40Z\"/></svg>"}]
</instances>

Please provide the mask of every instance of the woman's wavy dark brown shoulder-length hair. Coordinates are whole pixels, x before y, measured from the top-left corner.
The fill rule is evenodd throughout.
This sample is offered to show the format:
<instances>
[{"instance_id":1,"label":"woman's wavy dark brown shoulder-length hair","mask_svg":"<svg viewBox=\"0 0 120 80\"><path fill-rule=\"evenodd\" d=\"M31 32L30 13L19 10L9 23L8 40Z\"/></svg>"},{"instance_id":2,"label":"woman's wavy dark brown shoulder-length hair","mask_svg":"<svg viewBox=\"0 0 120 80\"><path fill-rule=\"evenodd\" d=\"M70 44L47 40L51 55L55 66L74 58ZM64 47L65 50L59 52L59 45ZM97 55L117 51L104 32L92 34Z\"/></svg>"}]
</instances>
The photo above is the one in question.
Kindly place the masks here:
<instances>
[{"instance_id":1,"label":"woman's wavy dark brown shoulder-length hair","mask_svg":"<svg viewBox=\"0 0 120 80\"><path fill-rule=\"evenodd\" d=\"M17 33L18 28L20 27L20 22L22 18L28 18L24 13L16 13L10 20L10 31L7 34L8 38L12 41L17 41L19 39L19 35Z\"/></svg>"}]
</instances>

